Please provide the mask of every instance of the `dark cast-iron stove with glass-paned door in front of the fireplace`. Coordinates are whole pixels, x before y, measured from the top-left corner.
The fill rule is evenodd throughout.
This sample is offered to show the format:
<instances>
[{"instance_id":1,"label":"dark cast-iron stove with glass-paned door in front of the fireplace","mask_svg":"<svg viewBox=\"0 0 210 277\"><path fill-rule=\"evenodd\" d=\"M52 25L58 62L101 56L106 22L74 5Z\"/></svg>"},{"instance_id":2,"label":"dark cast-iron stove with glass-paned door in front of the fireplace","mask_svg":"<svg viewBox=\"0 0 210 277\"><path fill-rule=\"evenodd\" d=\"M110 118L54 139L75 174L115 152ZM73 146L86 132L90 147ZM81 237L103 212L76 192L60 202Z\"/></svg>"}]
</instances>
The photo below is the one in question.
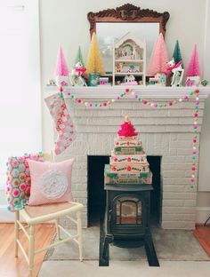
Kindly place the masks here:
<instances>
[{"instance_id":1,"label":"dark cast-iron stove with glass-paned door in front of the fireplace","mask_svg":"<svg viewBox=\"0 0 210 277\"><path fill-rule=\"evenodd\" d=\"M109 265L109 243L123 248L144 245L150 266L159 266L149 230L151 185L105 185L107 200L101 219L100 266Z\"/></svg>"}]
</instances>

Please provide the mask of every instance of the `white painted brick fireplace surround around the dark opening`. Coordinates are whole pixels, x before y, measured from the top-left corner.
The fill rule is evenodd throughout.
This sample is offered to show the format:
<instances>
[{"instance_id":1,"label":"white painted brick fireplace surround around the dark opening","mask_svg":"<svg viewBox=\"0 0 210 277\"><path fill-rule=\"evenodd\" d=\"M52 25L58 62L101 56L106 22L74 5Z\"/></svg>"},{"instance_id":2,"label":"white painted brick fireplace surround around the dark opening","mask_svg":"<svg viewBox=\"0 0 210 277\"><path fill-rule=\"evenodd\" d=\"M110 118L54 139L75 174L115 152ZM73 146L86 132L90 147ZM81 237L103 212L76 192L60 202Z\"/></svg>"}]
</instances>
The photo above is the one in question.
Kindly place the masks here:
<instances>
[{"instance_id":1,"label":"white painted brick fireplace surround around the dark opening","mask_svg":"<svg viewBox=\"0 0 210 277\"><path fill-rule=\"evenodd\" d=\"M123 87L69 88L81 99L99 101L115 99ZM146 87L134 89L142 99L165 103L186 95L190 88ZM198 145L209 88L200 88L198 112ZM53 93L55 91L53 90ZM163 228L192 229L195 226L198 187L190 187L192 154L193 101L157 109L143 106L132 97L117 100L109 107L85 107L66 99L69 113L77 126L77 139L57 161L75 157L72 176L73 196L85 205L84 226L87 225L87 155L109 155L114 146L123 115L129 115L139 132L148 155L161 156L161 195ZM198 146L199 155L199 146ZM198 164L197 155L197 164ZM198 167L198 166L197 166ZM198 184L198 178L196 178Z\"/></svg>"}]
</instances>

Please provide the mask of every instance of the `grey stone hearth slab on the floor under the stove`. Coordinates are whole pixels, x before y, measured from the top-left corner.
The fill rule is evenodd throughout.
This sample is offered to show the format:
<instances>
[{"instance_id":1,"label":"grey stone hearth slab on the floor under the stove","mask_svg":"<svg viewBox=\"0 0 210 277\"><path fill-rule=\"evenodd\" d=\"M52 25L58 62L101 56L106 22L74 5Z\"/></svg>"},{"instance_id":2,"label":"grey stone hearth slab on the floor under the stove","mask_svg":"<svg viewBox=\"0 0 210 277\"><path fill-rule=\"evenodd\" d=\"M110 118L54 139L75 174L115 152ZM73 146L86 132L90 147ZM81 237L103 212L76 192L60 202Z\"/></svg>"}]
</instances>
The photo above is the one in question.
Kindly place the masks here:
<instances>
[{"instance_id":1,"label":"grey stone hearth slab on the floor under the stove","mask_svg":"<svg viewBox=\"0 0 210 277\"><path fill-rule=\"evenodd\" d=\"M76 232L76 230L72 230ZM71 233L74 233L71 232ZM210 258L188 230L151 229L158 259L167 261L209 261ZM63 234L63 237L65 235ZM98 226L83 230L84 258L85 260L98 260L99 258ZM57 237L53 239L56 241ZM45 261L77 260L78 249L74 241L68 241L55 248L49 249L44 257ZM110 244L109 259L120 261L146 260L144 247L136 249L122 249Z\"/></svg>"}]
</instances>

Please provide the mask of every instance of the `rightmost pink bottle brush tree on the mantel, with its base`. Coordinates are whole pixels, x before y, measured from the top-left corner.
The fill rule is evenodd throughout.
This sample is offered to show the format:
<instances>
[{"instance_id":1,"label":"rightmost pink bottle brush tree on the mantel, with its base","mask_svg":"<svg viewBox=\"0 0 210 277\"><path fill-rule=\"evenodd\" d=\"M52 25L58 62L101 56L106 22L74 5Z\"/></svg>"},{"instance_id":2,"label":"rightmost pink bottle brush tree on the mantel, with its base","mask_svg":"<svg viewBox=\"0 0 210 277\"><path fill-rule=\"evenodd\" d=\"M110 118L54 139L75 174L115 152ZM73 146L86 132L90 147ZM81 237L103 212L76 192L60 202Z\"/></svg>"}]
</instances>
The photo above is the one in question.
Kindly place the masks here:
<instances>
[{"instance_id":1,"label":"rightmost pink bottle brush tree on the mantel, with its base","mask_svg":"<svg viewBox=\"0 0 210 277\"><path fill-rule=\"evenodd\" d=\"M200 67L198 60L197 44L195 44L190 58L189 65L186 70L186 86L197 85L200 83Z\"/></svg>"}]
</instances>

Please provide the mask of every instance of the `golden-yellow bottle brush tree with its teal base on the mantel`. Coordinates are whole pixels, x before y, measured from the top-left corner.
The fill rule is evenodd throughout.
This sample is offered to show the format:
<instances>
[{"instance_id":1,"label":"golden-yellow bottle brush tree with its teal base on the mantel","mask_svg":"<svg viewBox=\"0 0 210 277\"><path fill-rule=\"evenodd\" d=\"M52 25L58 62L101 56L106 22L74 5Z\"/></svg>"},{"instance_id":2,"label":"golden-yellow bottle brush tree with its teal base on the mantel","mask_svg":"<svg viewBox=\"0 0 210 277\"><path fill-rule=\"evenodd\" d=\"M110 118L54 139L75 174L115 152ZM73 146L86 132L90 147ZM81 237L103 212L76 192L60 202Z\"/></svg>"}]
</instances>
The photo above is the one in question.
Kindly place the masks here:
<instances>
[{"instance_id":1,"label":"golden-yellow bottle brush tree with its teal base on the mantel","mask_svg":"<svg viewBox=\"0 0 210 277\"><path fill-rule=\"evenodd\" d=\"M97 86L100 83L100 75L104 75L104 68L101 59L101 53L99 49L99 44L95 33L93 33L89 55L87 59L87 70L86 73L89 74L89 85Z\"/></svg>"}]
</instances>

